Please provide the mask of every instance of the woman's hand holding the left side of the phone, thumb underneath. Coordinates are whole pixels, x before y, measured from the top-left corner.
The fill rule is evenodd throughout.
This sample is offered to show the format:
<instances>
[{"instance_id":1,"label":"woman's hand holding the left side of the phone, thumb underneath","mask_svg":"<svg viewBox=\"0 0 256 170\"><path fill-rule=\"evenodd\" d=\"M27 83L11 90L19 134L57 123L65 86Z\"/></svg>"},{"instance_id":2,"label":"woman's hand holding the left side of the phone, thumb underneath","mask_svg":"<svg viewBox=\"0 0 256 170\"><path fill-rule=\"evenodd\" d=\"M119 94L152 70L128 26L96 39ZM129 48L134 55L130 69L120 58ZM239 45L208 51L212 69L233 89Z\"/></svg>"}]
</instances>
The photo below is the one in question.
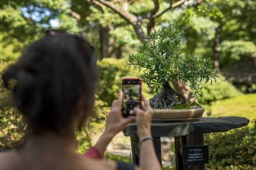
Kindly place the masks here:
<instances>
[{"instance_id":1,"label":"woman's hand holding the left side of the phone, thumb underneath","mask_svg":"<svg viewBox=\"0 0 256 170\"><path fill-rule=\"evenodd\" d=\"M112 102L111 111L106 118L106 132L112 135L118 134L126 125L135 122L135 117L124 118L122 116L122 97L121 91L118 99Z\"/></svg>"}]
</instances>

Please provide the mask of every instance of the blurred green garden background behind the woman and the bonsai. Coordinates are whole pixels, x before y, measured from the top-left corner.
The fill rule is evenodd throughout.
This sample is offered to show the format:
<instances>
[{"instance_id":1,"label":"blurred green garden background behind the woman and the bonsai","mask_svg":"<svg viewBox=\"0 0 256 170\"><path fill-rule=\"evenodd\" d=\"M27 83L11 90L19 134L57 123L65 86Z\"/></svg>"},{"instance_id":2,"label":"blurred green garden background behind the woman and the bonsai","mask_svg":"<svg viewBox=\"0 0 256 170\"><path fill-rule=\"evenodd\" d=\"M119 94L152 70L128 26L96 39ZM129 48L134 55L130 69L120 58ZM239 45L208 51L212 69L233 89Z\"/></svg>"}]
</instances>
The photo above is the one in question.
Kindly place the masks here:
<instances>
[{"instance_id":1,"label":"blurred green garden background behind the woman and the bonsai","mask_svg":"<svg viewBox=\"0 0 256 170\"><path fill-rule=\"evenodd\" d=\"M93 145L105 126L106 113L117 98L124 76L140 72L124 68L125 59L151 32L166 25L180 29L182 51L210 58L219 71L216 83L203 85L199 103L204 116L246 116L245 128L209 134L206 169L256 169L256 1L255 0L16 0L0 1L0 74L22 50L47 29L79 34L95 46L99 88L95 114L77 132L77 152ZM136 21L136 22L135 22ZM22 144L26 126L0 80L0 150ZM150 98L145 84L142 92ZM115 146L129 144L122 134ZM171 139L170 139L171 141ZM121 150L129 146L121 146ZM173 144L167 150L171 153ZM109 149L110 150L110 149ZM130 161L130 156L106 152L106 159ZM172 156L164 168L173 169Z\"/></svg>"}]
</instances>

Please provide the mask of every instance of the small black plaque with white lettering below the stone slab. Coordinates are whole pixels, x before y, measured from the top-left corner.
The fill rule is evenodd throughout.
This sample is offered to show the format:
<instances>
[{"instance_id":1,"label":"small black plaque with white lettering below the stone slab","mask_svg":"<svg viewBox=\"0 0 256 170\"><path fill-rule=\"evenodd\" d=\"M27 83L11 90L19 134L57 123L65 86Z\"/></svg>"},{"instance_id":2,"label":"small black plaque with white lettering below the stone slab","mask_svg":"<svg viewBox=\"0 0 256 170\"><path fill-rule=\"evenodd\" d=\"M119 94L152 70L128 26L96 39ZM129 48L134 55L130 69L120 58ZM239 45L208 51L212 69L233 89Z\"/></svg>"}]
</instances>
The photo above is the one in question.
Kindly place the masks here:
<instances>
[{"instance_id":1,"label":"small black plaque with white lettering below the stone slab","mask_svg":"<svg viewBox=\"0 0 256 170\"><path fill-rule=\"evenodd\" d=\"M196 165L209 163L208 146L182 146L183 165Z\"/></svg>"}]
</instances>

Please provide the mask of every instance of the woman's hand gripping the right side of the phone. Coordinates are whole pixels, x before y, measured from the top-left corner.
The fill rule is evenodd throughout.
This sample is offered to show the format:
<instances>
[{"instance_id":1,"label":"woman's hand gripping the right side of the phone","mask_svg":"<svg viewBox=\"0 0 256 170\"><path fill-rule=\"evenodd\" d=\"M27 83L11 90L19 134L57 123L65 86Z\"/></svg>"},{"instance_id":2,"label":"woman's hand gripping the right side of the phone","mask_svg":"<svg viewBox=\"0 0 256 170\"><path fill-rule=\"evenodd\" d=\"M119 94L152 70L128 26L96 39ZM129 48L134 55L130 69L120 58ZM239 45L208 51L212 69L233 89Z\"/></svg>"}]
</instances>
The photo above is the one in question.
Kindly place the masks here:
<instances>
[{"instance_id":1,"label":"woman's hand gripping the right side of the phone","mask_svg":"<svg viewBox=\"0 0 256 170\"><path fill-rule=\"evenodd\" d=\"M147 99L142 95L142 108L134 108L136 114L138 137L141 139L143 136L151 136L151 119L154 114Z\"/></svg>"}]
</instances>

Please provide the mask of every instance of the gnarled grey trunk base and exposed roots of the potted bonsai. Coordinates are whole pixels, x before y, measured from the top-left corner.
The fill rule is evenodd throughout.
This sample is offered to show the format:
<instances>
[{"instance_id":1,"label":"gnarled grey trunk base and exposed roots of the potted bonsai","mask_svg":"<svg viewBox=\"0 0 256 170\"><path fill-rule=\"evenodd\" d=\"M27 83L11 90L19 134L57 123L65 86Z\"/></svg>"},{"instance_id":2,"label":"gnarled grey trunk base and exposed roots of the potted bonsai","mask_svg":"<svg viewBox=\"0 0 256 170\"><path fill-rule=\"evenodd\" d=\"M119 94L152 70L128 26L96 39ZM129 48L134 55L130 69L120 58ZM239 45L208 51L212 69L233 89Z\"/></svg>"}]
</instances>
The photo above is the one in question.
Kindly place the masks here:
<instances>
[{"instance_id":1,"label":"gnarled grey trunk base and exposed roots of the potted bonsai","mask_svg":"<svg viewBox=\"0 0 256 170\"><path fill-rule=\"evenodd\" d=\"M187 104L187 100L183 94L175 91L168 82L164 83L161 91L150 99L150 105L153 109L166 109L179 104Z\"/></svg>"}]
</instances>

